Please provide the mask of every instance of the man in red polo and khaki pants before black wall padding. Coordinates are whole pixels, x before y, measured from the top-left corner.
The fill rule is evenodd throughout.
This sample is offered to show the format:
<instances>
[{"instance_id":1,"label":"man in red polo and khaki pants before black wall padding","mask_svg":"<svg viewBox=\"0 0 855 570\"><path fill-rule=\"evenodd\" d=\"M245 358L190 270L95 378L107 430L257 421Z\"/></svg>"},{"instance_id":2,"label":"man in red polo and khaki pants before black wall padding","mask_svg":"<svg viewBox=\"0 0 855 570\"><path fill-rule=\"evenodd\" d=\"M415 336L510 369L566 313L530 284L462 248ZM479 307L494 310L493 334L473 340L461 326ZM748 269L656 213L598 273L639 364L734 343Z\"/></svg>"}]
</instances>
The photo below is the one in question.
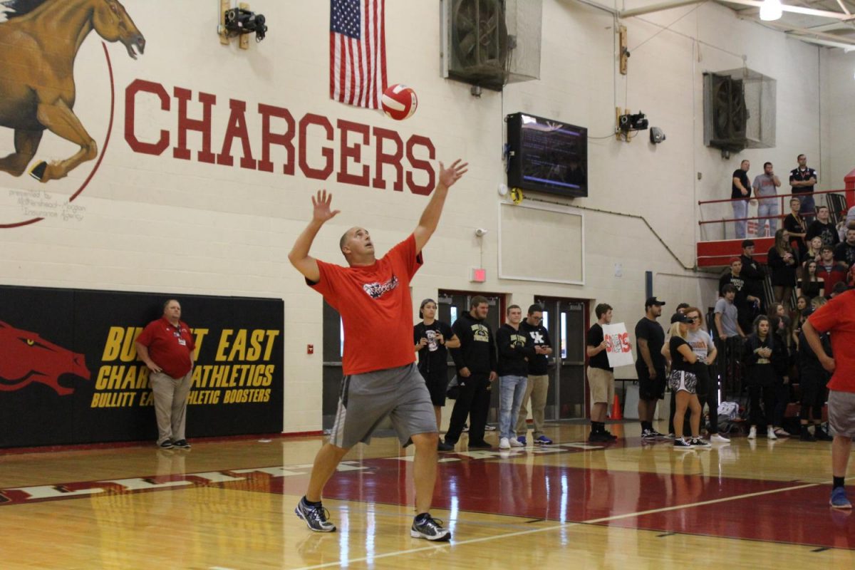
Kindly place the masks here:
<instances>
[{"instance_id":1,"label":"man in red polo and khaki pants before black wall padding","mask_svg":"<svg viewBox=\"0 0 855 570\"><path fill-rule=\"evenodd\" d=\"M163 316L139 333L136 346L139 359L150 370L158 447L189 450L184 424L196 344L190 327L181 320L181 304L175 299L163 303Z\"/></svg>"}]
</instances>

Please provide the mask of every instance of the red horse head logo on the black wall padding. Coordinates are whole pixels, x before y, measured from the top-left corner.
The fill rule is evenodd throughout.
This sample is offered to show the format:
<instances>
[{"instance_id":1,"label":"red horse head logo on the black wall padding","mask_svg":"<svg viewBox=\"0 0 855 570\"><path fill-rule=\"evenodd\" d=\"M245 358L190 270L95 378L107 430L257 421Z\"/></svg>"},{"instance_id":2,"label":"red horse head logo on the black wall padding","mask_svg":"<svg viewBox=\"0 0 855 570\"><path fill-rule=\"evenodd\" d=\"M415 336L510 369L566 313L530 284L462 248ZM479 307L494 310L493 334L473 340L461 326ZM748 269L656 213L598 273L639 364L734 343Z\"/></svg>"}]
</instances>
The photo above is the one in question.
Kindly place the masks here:
<instances>
[{"instance_id":1,"label":"red horse head logo on the black wall padding","mask_svg":"<svg viewBox=\"0 0 855 570\"><path fill-rule=\"evenodd\" d=\"M62 374L88 380L90 373L83 355L0 321L0 391L21 390L40 382L60 396L68 396L74 389L60 385Z\"/></svg>"}]
</instances>

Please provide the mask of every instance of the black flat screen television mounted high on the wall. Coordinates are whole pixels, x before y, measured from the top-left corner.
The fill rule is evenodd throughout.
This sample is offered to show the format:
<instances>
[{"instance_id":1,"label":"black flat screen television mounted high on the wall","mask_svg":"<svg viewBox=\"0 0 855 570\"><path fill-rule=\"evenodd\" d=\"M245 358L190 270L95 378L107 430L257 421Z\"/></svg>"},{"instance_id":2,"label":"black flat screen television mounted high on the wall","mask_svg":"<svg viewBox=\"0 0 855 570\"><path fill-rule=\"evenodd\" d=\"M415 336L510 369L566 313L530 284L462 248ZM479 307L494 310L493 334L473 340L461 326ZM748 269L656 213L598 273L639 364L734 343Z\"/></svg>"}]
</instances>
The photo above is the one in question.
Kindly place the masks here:
<instances>
[{"instance_id":1,"label":"black flat screen television mounted high on the wall","mask_svg":"<svg viewBox=\"0 0 855 570\"><path fill-rule=\"evenodd\" d=\"M508 115L508 185L587 197L587 128L527 113Z\"/></svg>"}]
</instances>

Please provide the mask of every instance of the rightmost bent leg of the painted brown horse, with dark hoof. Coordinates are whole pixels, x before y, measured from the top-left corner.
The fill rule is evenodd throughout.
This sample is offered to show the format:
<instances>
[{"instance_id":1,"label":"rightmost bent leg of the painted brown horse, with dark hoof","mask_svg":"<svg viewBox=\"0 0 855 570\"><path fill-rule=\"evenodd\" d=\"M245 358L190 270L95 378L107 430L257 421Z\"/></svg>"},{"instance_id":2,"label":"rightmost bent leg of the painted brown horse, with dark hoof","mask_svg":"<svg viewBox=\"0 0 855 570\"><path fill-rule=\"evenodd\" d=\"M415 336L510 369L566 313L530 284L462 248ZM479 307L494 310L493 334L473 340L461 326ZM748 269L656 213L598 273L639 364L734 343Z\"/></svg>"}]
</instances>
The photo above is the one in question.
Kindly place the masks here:
<instances>
[{"instance_id":1,"label":"rightmost bent leg of the painted brown horse, with dark hoof","mask_svg":"<svg viewBox=\"0 0 855 570\"><path fill-rule=\"evenodd\" d=\"M68 109L68 105L62 99L53 104L39 104L36 116L38 122L46 126L50 132L72 143L80 144L80 150L64 161L51 162L50 164L44 161L39 162L30 170L33 178L40 182L65 178L81 162L91 161L98 155L95 139L89 136L77 115Z\"/></svg>"}]
</instances>

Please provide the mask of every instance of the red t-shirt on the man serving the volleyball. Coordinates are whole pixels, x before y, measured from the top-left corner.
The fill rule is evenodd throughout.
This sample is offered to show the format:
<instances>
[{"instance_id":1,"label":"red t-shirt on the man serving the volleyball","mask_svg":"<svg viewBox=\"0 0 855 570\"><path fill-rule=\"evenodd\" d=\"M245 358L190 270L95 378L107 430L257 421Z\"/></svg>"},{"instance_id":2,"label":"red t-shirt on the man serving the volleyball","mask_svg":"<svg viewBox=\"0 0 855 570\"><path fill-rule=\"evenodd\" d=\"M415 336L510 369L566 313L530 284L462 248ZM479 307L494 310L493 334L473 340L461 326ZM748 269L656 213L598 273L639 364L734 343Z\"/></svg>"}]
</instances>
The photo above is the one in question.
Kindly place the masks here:
<instances>
[{"instance_id":1,"label":"red t-shirt on the man serving the volleyball","mask_svg":"<svg viewBox=\"0 0 855 570\"><path fill-rule=\"evenodd\" d=\"M307 283L339 311L345 326L345 375L416 361L410 279L422 267L416 238L396 245L373 265L341 267L318 261L321 280Z\"/></svg>"}]
</instances>

